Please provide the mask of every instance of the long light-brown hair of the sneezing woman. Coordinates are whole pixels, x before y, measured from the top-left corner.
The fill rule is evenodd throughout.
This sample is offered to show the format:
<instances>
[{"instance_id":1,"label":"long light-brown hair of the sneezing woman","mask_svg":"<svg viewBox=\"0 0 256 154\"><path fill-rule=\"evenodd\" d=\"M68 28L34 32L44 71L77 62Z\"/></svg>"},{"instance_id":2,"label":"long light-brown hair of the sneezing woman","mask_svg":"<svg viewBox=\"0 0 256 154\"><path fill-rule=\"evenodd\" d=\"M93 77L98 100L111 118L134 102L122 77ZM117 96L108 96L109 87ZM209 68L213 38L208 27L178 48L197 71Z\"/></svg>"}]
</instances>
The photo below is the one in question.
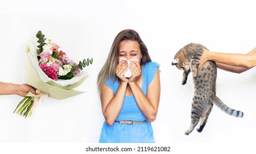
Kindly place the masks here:
<instances>
[{"instance_id":1,"label":"long light-brown hair of the sneezing woman","mask_svg":"<svg viewBox=\"0 0 256 154\"><path fill-rule=\"evenodd\" d=\"M116 38L114 38L110 52L108 54L107 61L105 62L100 73L98 74L97 86L99 93L101 93L101 87L102 84L105 83L105 81L107 81L108 79L111 79L112 81L117 79L115 70L117 64L119 63L119 45L124 40L132 40L137 41L139 43L139 48L140 51L142 52L142 59L140 61L140 65L144 65L147 62L151 62L148 49L144 42L142 41L142 39L140 38L138 32L131 29L122 30L117 34Z\"/></svg>"}]
</instances>

